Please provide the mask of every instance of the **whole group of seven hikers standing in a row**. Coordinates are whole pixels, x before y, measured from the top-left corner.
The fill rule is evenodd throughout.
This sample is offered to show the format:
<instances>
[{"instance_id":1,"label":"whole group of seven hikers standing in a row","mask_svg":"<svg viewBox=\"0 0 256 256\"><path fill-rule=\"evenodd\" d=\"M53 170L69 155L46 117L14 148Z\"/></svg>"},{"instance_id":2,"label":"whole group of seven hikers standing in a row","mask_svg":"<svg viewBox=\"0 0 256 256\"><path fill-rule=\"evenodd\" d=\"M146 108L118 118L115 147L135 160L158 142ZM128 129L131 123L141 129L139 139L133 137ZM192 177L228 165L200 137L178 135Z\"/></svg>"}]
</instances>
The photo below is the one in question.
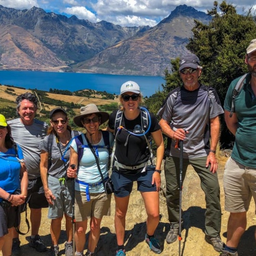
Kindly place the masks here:
<instances>
[{"instance_id":1,"label":"whole group of seven hikers standing in a row","mask_svg":"<svg viewBox=\"0 0 256 256\"><path fill-rule=\"evenodd\" d=\"M246 49L245 64L248 73L231 82L224 110L215 89L198 81L203 67L199 58L189 53L179 62L183 84L167 95L157 113L160 121L140 107L140 87L128 81L120 89L120 109L111 115L99 111L95 104L81 107L80 114L73 120L78 127L85 128L86 133L71 129L67 112L61 107L51 110L49 126L39 121L35 118L37 97L29 92L19 95L16 98L18 118L6 121L5 116L0 115L2 255L21 255L18 230L21 209L26 204L30 208L30 247L37 252L47 250L39 228L42 208L48 207L52 255L60 254L58 243L63 216L65 255L84 255L88 219L90 233L85 255L96 255L101 221L103 216L110 215L114 192L115 255L125 256L126 214L134 181L147 213L145 242L151 251L160 254L162 244L154 233L160 221L158 192L166 153L164 171L170 222L166 243L174 243L183 229L180 184L188 165L192 165L205 192L205 241L222 256L238 256L237 247L246 229L246 212L252 196L256 202L256 141L252 136L256 129L256 39ZM225 210L230 212L226 243L220 238L216 158L219 115L223 113L227 127L235 135L223 178ZM107 121L106 130L99 129ZM167 136L166 150L162 133ZM152 140L156 146L155 162Z\"/></svg>"}]
</instances>

